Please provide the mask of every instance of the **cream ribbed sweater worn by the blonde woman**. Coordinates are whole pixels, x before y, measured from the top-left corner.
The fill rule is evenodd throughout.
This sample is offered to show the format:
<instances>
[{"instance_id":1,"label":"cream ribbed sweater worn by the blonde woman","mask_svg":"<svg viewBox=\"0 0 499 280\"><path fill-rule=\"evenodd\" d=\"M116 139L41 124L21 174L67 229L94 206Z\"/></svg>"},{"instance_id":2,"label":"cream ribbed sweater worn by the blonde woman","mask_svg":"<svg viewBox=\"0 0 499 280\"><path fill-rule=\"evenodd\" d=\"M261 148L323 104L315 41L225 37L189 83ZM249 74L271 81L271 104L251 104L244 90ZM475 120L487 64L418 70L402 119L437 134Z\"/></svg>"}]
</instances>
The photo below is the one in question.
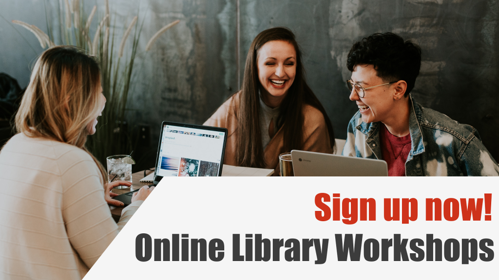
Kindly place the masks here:
<instances>
[{"instance_id":1,"label":"cream ribbed sweater worn by the blonde woman","mask_svg":"<svg viewBox=\"0 0 499 280\"><path fill-rule=\"evenodd\" d=\"M88 153L15 135L0 153L0 279L83 278L140 204L116 225Z\"/></svg>"}]
</instances>

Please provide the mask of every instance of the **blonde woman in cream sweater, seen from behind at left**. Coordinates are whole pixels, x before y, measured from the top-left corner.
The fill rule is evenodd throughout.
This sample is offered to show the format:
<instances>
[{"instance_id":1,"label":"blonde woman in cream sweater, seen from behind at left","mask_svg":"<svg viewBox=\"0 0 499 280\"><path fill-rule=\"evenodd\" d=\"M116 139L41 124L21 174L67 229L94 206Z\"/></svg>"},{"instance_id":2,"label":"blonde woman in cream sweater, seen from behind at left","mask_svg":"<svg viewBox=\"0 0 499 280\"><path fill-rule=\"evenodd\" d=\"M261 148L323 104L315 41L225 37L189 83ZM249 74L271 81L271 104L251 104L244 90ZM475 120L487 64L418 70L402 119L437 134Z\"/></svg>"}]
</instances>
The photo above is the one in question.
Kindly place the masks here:
<instances>
[{"instance_id":1,"label":"blonde woman in cream sweater, seen from behind at left","mask_svg":"<svg viewBox=\"0 0 499 280\"><path fill-rule=\"evenodd\" d=\"M153 188L143 187L118 224L106 172L84 144L105 105L96 61L70 46L38 58L17 134L0 152L0 278L81 279ZM119 202L118 202L119 203Z\"/></svg>"}]
</instances>

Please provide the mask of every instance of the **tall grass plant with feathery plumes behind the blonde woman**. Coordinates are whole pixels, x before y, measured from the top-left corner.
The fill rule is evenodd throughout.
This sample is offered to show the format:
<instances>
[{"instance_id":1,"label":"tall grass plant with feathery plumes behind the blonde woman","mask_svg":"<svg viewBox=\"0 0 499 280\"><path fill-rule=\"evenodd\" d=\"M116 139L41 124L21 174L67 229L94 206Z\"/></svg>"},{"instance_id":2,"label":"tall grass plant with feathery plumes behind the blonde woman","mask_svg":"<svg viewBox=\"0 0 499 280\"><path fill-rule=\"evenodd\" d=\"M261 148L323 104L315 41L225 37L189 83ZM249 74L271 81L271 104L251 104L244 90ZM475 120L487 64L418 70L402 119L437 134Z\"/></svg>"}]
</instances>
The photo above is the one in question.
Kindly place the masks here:
<instances>
[{"instance_id":1,"label":"tall grass plant with feathery plumes behind the blonde woman","mask_svg":"<svg viewBox=\"0 0 499 280\"><path fill-rule=\"evenodd\" d=\"M59 18L58 30L59 45L73 45L84 49L89 54L96 56L101 69L101 84L103 94L106 97L106 107L96 128L96 133L88 137L87 147L103 163L106 157L114 154L128 154L133 148L131 126L126 122L127 101L130 94L130 85L134 69L134 60L137 54L139 38L144 20L137 23L138 15L133 17L128 26L117 27L116 18L109 10L109 1L104 1L105 12L101 15L97 30L93 36L90 35L90 25L96 17L97 6L86 14L83 0L59 0L59 8L56 11ZM22 21L12 20L29 31L38 39L42 48L55 46L53 28L48 21L49 11L46 9L47 33L35 25ZM167 29L177 24L176 20L161 28L154 34L146 45L149 51L158 37ZM111 25L111 22L113 24ZM140 25L140 26L139 26ZM121 35L119 47L115 48L118 36ZM131 50L125 51L128 37L131 37Z\"/></svg>"}]
</instances>

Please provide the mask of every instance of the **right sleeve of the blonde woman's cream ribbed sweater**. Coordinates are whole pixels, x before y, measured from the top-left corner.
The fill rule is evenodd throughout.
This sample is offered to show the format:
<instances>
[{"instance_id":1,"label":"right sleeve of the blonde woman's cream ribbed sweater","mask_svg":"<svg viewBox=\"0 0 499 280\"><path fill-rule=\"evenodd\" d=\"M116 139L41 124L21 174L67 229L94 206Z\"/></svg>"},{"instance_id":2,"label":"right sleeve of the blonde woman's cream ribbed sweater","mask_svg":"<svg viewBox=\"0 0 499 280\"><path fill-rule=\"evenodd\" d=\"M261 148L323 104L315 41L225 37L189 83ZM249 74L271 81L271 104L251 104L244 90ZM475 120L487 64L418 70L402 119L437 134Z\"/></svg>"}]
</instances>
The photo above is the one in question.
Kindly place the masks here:
<instances>
[{"instance_id":1,"label":"right sleeve of the blonde woman's cream ribbed sweater","mask_svg":"<svg viewBox=\"0 0 499 280\"><path fill-rule=\"evenodd\" d=\"M118 234L118 225L104 200L102 179L92 158L86 153L70 152L60 161L59 166L68 166L61 170L61 207L67 237L81 260L91 268ZM125 215L119 221L119 229L140 204L135 202L123 209Z\"/></svg>"}]
</instances>

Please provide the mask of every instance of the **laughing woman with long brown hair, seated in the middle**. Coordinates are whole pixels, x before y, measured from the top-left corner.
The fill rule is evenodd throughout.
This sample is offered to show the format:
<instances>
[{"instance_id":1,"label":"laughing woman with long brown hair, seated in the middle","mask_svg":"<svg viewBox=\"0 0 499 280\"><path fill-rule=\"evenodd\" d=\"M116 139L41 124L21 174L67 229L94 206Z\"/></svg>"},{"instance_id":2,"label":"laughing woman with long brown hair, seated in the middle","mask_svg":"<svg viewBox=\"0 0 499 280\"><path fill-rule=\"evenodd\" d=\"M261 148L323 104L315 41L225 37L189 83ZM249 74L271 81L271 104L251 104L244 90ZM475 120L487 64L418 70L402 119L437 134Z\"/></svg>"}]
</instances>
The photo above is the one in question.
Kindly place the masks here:
<instances>
[{"instance_id":1,"label":"laughing woman with long brown hair, seated in the middle","mask_svg":"<svg viewBox=\"0 0 499 280\"><path fill-rule=\"evenodd\" d=\"M305 81L294 34L283 27L254 38L242 89L205 125L229 130L224 163L271 168L275 175L280 153L332 153L334 148L331 121Z\"/></svg>"}]
</instances>

